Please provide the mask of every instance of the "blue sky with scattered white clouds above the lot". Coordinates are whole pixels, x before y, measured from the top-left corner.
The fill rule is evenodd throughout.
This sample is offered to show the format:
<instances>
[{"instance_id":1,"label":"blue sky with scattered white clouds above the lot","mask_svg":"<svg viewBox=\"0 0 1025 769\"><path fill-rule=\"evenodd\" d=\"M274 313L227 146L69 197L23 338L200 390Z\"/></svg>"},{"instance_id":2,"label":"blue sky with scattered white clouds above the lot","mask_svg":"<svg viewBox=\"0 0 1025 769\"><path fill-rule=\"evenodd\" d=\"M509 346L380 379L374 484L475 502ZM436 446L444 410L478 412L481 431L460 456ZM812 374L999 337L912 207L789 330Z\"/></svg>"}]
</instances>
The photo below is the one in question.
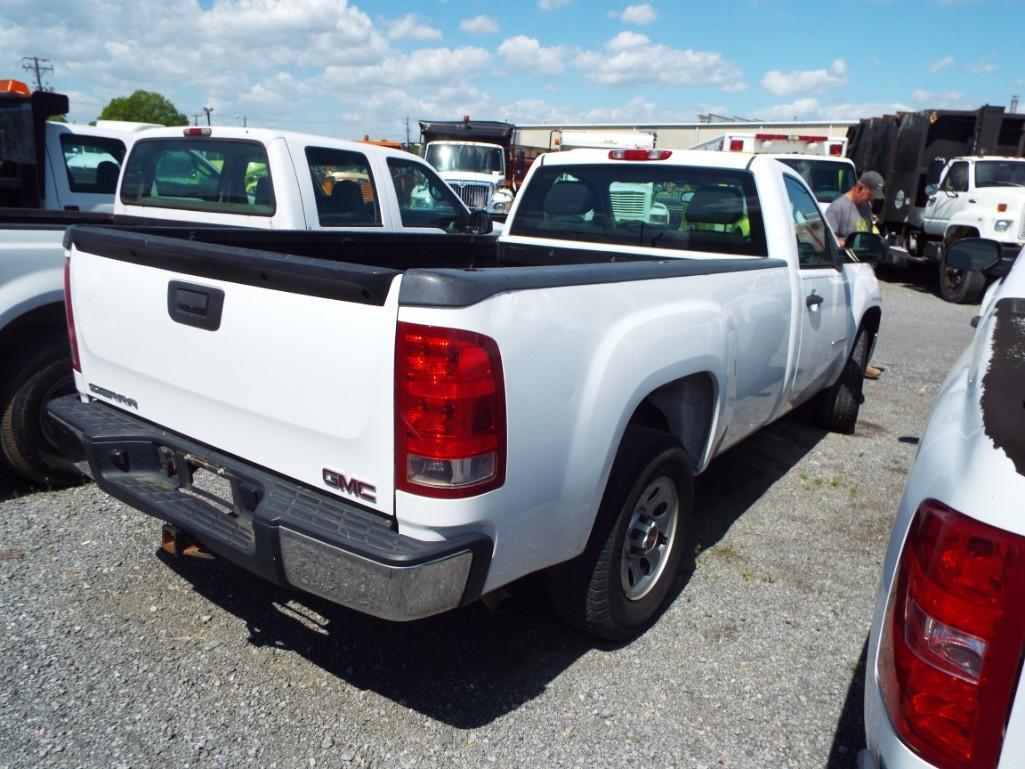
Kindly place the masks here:
<instances>
[{"instance_id":1,"label":"blue sky with scattered white clouds above the lot","mask_svg":"<svg viewBox=\"0 0 1025 769\"><path fill-rule=\"evenodd\" d=\"M50 59L76 121L144 88L341 137L465 114L857 119L1025 104L1023 23L1025 0L3 0L0 78Z\"/></svg>"}]
</instances>

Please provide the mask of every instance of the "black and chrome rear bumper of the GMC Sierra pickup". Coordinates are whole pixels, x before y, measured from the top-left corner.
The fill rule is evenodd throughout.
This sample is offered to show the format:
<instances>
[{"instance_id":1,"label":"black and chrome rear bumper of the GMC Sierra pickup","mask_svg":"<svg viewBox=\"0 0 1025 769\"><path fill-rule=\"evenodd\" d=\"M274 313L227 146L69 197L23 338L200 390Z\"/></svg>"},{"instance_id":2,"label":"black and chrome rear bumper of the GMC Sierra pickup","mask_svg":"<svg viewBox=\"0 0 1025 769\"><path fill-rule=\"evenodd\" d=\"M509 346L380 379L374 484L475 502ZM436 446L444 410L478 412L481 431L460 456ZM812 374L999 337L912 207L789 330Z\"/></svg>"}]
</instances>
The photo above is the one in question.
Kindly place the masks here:
<instances>
[{"instance_id":1,"label":"black and chrome rear bumper of the GMC Sierra pickup","mask_svg":"<svg viewBox=\"0 0 1025 769\"><path fill-rule=\"evenodd\" d=\"M480 598L492 553L484 534L413 539L376 513L104 403L72 395L48 409L99 488L277 584L398 621ZM223 493L194 486L199 470Z\"/></svg>"}]
</instances>

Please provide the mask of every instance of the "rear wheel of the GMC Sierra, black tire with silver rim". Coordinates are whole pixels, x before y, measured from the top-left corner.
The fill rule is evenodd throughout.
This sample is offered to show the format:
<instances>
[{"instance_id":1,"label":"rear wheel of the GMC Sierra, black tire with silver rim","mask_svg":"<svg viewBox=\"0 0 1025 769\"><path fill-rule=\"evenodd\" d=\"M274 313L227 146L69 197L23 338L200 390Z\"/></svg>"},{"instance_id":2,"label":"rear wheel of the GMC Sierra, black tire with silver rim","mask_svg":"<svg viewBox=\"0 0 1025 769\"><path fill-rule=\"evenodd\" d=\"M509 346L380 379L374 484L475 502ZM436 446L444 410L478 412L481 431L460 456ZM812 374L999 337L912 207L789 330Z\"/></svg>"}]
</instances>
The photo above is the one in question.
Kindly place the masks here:
<instances>
[{"instance_id":1,"label":"rear wheel of the GMC Sierra, black tire with silver rim","mask_svg":"<svg viewBox=\"0 0 1025 769\"><path fill-rule=\"evenodd\" d=\"M674 438L627 428L584 552L548 570L560 615L614 641L641 632L679 571L693 488L687 453Z\"/></svg>"}]
</instances>

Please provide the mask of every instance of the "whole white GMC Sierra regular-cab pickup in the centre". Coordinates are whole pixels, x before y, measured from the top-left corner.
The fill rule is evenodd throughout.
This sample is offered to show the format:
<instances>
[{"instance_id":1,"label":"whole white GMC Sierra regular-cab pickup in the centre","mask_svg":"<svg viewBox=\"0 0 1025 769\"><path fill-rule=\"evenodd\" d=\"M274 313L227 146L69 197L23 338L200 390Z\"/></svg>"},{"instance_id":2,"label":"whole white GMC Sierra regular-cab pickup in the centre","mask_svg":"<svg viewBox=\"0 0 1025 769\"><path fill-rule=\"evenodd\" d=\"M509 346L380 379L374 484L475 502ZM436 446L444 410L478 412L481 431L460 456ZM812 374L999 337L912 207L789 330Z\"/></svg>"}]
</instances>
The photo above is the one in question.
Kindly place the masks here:
<instances>
[{"instance_id":1,"label":"whole white GMC Sierra regular-cab pickup in the centre","mask_svg":"<svg viewBox=\"0 0 1025 769\"><path fill-rule=\"evenodd\" d=\"M612 206L668 183L676 228ZM71 455L169 549L395 620L544 569L571 622L639 633L693 476L813 399L853 432L880 319L872 268L756 156L545 155L497 242L169 235L68 233Z\"/></svg>"}]
</instances>

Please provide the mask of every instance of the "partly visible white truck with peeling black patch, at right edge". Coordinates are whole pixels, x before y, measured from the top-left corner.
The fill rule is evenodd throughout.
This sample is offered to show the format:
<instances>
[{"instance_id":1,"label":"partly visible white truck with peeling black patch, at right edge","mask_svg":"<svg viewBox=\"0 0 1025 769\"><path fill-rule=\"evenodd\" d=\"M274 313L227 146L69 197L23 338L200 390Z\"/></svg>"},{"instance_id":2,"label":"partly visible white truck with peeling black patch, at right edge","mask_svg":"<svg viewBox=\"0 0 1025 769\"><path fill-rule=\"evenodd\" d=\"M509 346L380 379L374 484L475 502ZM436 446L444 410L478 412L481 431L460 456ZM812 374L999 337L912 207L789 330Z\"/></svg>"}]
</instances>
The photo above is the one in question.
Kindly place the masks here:
<instances>
[{"instance_id":1,"label":"partly visible white truck with peeling black patch, at right edge","mask_svg":"<svg viewBox=\"0 0 1025 769\"><path fill-rule=\"evenodd\" d=\"M894 521L859 769L1025 765L1025 265L1004 275L1001 250L969 238L947 252L1001 280L940 389Z\"/></svg>"}]
</instances>

